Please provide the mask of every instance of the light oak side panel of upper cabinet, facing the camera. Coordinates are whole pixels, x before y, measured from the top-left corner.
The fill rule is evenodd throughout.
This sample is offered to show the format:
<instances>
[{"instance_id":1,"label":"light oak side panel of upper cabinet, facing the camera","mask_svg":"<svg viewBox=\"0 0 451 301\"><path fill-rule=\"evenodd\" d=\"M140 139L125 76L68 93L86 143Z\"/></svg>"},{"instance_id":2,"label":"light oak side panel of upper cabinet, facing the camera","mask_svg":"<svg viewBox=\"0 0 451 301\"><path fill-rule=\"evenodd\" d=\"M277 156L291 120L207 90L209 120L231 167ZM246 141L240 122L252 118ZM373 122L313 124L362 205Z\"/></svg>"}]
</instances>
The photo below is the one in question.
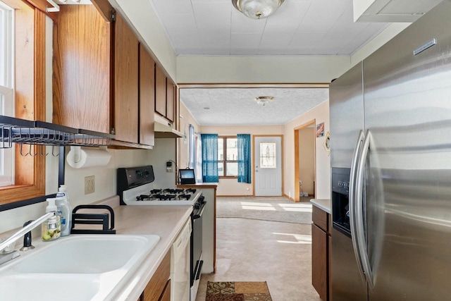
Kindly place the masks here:
<instances>
[{"instance_id":1,"label":"light oak side panel of upper cabinet, facing the camera","mask_svg":"<svg viewBox=\"0 0 451 301\"><path fill-rule=\"evenodd\" d=\"M109 133L111 23L92 5L62 5L56 16L53 122Z\"/></svg>"}]
</instances>

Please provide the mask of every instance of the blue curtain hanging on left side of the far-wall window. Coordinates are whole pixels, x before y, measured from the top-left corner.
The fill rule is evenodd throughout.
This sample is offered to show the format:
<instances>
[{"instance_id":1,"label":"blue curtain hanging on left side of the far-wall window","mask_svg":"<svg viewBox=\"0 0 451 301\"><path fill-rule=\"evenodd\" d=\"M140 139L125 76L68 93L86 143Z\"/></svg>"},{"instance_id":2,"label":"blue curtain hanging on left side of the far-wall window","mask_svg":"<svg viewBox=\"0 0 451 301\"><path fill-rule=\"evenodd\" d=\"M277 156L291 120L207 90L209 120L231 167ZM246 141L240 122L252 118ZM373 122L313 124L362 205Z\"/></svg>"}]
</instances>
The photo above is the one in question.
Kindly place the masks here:
<instances>
[{"instance_id":1,"label":"blue curtain hanging on left side of the far-wall window","mask_svg":"<svg viewBox=\"0 0 451 301\"><path fill-rule=\"evenodd\" d=\"M201 134L202 182L218 183L218 134Z\"/></svg>"}]
</instances>

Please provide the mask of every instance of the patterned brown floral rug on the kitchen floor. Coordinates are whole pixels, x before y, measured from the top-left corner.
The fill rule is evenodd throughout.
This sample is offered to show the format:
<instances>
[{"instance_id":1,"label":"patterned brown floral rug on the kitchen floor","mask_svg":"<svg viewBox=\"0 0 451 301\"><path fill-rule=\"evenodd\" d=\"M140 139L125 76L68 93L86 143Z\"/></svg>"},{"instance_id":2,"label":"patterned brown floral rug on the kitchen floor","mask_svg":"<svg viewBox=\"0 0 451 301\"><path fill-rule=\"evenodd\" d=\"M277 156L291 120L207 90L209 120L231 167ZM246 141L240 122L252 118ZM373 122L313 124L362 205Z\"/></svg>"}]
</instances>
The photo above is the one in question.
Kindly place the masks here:
<instances>
[{"instance_id":1,"label":"patterned brown floral rug on the kitchen floor","mask_svg":"<svg viewBox=\"0 0 451 301\"><path fill-rule=\"evenodd\" d=\"M265 282L208 282L205 301L272 301Z\"/></svg>"}]
</instances>

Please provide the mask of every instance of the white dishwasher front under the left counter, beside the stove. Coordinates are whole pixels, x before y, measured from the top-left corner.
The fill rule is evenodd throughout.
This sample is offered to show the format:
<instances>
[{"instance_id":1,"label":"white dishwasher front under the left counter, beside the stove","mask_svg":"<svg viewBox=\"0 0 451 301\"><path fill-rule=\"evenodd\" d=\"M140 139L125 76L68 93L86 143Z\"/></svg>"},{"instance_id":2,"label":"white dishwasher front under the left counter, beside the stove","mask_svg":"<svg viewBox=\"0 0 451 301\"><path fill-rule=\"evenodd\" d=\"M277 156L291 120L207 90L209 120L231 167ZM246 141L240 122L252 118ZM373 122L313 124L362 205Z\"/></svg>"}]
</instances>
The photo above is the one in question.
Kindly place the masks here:
<instances>
[{"instance_id":1,"label":"white dishwasher front under the left counter, beside the stove","mask_svg":"<svg viewBox=\"0 0 451 301\"><path fill-rule=\"evenodd\" d=\"M190 301L191 219L171 247L171 301Z\"/></svg>"}]
</instances>

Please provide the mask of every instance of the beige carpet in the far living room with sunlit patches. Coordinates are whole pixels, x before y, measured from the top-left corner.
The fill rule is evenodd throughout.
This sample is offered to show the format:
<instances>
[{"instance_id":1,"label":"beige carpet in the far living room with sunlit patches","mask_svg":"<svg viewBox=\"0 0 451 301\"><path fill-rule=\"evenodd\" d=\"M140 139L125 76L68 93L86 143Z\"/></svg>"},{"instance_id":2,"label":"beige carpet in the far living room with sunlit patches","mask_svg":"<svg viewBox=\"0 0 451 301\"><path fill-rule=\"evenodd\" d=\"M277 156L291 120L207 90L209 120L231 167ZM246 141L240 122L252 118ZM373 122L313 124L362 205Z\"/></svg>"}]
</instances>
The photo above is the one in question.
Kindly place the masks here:
<instances>
[{"instance_id":1,"label":"beige carpet in the far living room with sunlit patches","mask_svg":"<svg viewBox=\"0 0 451 301\"><path fill-rule=\"evenodd\" d=\"M311 204L286 197L216 197L216 217L311 223Z\"/></svg>"}]
</instances>

